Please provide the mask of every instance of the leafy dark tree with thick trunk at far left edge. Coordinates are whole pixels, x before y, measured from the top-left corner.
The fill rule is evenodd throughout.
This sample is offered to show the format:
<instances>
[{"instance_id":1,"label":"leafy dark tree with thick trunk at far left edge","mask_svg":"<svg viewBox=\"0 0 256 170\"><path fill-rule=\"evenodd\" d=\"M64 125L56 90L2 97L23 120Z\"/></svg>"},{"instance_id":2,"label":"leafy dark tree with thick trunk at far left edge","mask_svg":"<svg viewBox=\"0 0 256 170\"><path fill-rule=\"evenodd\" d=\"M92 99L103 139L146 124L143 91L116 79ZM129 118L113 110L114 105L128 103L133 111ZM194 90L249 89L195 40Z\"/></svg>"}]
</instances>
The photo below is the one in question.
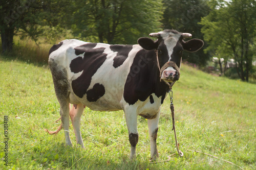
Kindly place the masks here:
<instances>
[{"instance_id":1,"label":"leafy dark tree with thick trunk at far left edge","mask_svg":"<svg viewBox=\"0 0 256 170\"><path fill-rule=\"evenodd\" d=\"M12 50L13 36L17 32L35 41L39 36L49 33L45 32L45 27L57 26L59 9L61 4L51 0L2 0L0 34L3 52Z\"/></svg>"}]
</instances>

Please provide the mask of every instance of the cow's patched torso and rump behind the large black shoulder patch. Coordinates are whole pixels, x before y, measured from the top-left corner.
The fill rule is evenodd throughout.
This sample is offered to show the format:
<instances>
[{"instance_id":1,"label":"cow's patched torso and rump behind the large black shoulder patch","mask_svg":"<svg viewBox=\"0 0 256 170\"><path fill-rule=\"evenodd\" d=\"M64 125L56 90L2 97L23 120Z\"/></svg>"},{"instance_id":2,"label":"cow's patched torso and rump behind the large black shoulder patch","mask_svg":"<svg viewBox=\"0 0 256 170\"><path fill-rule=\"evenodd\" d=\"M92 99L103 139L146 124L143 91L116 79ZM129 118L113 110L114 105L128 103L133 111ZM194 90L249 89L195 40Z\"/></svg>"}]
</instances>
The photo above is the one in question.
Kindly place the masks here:
<instances>
[{"instance_id":1,"label":"cow's patched torso and rump behind the large black shoulder patch","mask_svg":"<svg viewBox=\"0 0 256 170\"><path fill-rule=\"evenodd\" d=\"M70 103L92 110L120 110L124 83L140 49L139 45L64 40L51 48L49 65L55 81L68 87Z\"/></svg>"}]
</instances>

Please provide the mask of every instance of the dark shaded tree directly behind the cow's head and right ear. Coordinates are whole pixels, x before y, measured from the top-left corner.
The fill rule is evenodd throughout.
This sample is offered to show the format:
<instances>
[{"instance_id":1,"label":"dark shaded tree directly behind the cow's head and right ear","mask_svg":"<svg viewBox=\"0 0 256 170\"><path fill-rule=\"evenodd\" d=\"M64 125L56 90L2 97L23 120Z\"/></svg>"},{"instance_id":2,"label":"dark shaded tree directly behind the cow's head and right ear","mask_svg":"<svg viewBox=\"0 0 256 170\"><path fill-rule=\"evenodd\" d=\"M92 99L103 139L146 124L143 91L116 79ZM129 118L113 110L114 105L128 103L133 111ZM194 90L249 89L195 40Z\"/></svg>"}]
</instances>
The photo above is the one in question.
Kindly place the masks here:
<instances>
[{"instance_id":1,"label":"dark shaded tree directly behind the cow's head and right ear","mask_svg":"<svg viewBox=\"0 0 256 170\"><path fill-rule=\"evenodd\" d=\"M203 39L202 26L198 22L201 21L201 17L209 13L205 0L164 0L163 4L165 10L161 22L164 29L188 32L195 38ZM201 50L193 54L184 53L183 58L191 63L204 65L208 60L208 55Z\"/></svg>"}]
</instances>

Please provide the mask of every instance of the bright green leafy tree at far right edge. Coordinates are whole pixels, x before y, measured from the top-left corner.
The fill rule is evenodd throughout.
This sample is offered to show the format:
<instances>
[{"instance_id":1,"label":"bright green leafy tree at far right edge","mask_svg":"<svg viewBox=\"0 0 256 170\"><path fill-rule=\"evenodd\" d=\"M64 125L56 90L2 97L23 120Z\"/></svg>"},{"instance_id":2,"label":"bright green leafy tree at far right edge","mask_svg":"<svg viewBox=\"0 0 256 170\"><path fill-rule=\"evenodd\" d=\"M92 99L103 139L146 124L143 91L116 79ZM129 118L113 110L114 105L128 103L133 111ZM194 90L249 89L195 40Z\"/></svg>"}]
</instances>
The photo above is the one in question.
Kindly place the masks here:
<instances>
[{"instance_id":1,"label":"bright green leafy tree at far right edge","mask_svg":"<svg viewBox=\"0 0 256 170\"><path fill-rule=\"evenodd\" d=\"M234 58L239 77L248 82L255 52L256 2L214 0L209 5L212 11L200 23L209 42L206 51L225 60Z\"/></svg>"}]
</instances>

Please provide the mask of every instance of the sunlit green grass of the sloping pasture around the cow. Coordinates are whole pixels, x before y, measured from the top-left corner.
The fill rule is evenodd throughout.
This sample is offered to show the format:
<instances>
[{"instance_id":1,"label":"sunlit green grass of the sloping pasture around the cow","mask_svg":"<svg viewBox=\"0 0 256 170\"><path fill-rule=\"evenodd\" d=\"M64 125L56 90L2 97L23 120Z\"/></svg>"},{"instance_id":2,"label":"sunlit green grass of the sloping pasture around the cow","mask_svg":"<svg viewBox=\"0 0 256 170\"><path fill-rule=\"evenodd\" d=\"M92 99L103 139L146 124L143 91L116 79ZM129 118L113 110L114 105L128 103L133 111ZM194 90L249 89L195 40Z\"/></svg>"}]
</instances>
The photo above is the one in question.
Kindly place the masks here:
<instances>
[{"instance_id":1,"label":"sunlit green grass of the sloping pasture around the cow","mask_svg":"<svg viewBox=\"0 0 256 170\"><path fill-rule=\"evenodd\" d=\"M59 105L47 65L0 58L1 147L4 152L4 115L8 122L8 166L0 169L244 169L256 168L256 85L205 74L186 65L174 85L176 129L180 150L169 162L150 164L147 120L138 117L137 158L129 160L130 143L123 111L85 109L81 133L86 149L65 147ZM159 160L176 153L169 99L163 104L157 139ZM17 118L15 118L15 116ZM20 119L18 119L18 117ZM233 162L191 152L197 150Z\"/></svg>"}]
</instances>

